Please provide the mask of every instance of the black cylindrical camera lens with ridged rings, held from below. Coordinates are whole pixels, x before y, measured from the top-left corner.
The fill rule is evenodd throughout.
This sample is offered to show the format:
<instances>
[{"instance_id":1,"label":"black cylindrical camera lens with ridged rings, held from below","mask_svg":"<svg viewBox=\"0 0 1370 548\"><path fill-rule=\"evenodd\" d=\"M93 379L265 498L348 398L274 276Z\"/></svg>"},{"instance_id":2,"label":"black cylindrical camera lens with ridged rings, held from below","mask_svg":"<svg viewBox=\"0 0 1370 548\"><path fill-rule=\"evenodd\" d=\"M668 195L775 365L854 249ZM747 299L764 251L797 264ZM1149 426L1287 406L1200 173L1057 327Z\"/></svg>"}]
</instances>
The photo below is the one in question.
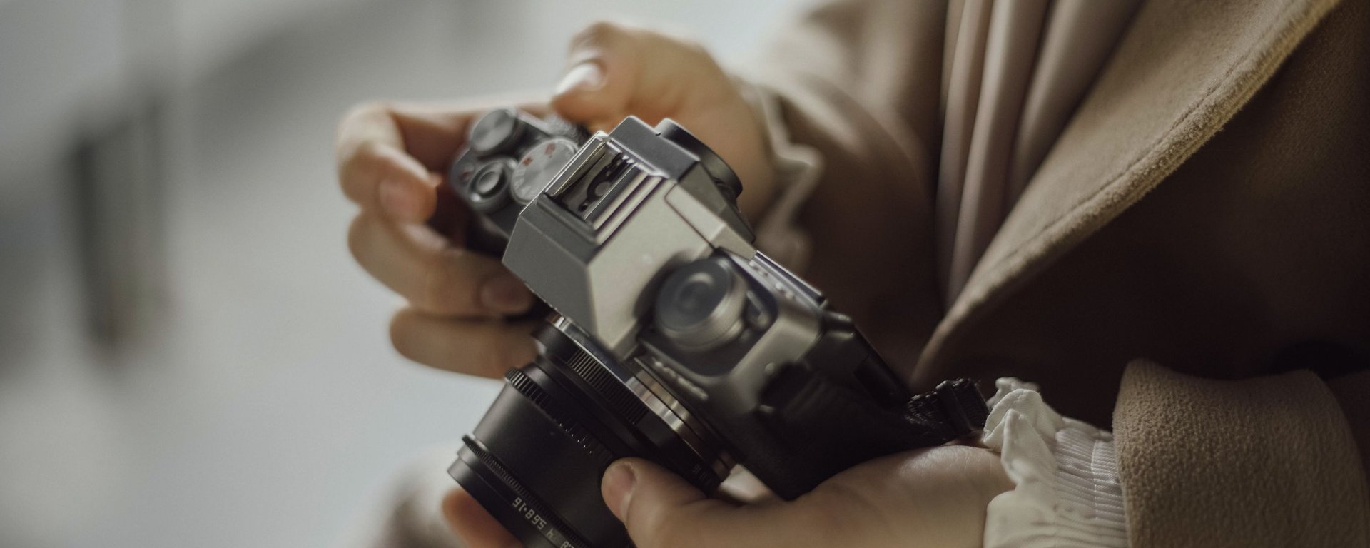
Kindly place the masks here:
<instances>
[{"instance_id":1,"label":"black cylindrical camera lens with ridged rings, held from below","mask_svg":"<svg viewBox=\"0 0 1370 548\"><path fill-rule=\"evenodd\" d=\"M615 459L641 456L711 492L730 463L707 430L634 366L564 319L537 334L448 470L527 547L632 547L600 496Z\"/></svg>"}]
</instances>

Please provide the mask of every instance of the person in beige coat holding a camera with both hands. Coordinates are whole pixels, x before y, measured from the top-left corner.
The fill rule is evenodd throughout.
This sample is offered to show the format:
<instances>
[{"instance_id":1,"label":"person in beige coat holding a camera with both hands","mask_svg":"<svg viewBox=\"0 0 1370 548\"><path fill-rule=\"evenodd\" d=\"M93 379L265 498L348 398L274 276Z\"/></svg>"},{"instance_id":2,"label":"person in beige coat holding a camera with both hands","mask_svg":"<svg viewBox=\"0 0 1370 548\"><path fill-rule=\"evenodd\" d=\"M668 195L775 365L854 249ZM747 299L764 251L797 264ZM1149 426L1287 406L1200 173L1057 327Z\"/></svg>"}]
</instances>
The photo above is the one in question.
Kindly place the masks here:
<instances>
[{"instance_id":1,"label":"person in beige coat holding a camera with both hands","mask_svg":"<svg viewBox=\"0 0 1370 548\"><path fill-rule=\"evenodd\" d=\"M912 388L1004 377L980 444L758 504L626 459L606 503L640 547L1370 545L1367 41L1358 1L832 0L729 74L588 27L525 110L675 119ZM425 221L504 104L370 103L337 138L396 349L484 377L533 358L501 319L533 296ZM469 545L514 543L449 489Z\"/></svg>"}]
</instances>

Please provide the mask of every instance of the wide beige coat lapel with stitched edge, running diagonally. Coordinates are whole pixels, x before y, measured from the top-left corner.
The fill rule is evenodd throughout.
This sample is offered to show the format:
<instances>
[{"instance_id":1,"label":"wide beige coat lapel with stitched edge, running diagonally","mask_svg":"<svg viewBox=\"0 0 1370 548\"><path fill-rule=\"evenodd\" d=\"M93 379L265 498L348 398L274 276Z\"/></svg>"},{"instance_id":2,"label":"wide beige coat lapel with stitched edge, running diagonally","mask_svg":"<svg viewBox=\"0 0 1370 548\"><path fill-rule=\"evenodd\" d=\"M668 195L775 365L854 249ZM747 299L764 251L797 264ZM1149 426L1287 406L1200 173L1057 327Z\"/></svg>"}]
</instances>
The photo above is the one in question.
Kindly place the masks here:
<instances>
[{"instance_id":1,"label":"wide beige coat lapel with stitched edge, running diagonally","mask_svg":"<svg viewBox=\"0 0 1370 548\"><path fill-rule=\"evenodd\" d=\"M921 362L1173 173L1336 3L1145 1Z\"/></svg>"}]
</instances>

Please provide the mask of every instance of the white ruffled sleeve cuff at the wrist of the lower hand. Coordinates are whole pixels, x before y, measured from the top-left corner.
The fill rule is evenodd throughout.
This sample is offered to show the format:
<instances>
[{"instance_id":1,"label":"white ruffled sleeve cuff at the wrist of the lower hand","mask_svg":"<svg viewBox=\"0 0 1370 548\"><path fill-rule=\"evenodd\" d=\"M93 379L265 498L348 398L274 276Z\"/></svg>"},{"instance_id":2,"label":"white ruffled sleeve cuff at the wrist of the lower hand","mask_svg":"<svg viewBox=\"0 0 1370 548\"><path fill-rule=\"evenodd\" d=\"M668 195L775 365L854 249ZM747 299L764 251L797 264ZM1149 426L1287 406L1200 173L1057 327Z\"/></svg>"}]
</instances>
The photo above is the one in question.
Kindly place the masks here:
<instances>
[{"instance_id":1,"label":"white ruffled sleeve cuff at the wrist of the lower hand","mask_svg":"<svg viewBox=\"0 0 1370 548\"><path fill-rule=\"evenodd\" d=\"M1126 547L1112 433L1060 416L1030 382L995 385L981 441L1017 486L989 503L985 547Z\"/></svg>"}]
</instances>

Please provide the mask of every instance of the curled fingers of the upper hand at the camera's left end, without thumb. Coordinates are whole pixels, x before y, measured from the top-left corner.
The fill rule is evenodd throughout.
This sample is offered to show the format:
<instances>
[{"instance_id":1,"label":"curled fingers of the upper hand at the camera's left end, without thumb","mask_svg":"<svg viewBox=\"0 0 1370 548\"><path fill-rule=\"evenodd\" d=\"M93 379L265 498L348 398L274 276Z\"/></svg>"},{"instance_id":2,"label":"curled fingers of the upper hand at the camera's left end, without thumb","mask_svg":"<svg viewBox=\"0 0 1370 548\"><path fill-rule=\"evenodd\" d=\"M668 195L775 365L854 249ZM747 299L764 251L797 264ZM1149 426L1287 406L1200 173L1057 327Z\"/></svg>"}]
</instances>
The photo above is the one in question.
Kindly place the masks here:
<instances>
[{"instance_id":1,"label":"curled fingers of the upper hand at the camera's left end, without thumb","mask_svg":"<svg viewBox=\"0 0 1370 548\"><path fill-rule=\"evenodd\" d=\"M419 363L482 377L533 359L532 325L504 319L527 310L533 295L499 258L463 247L470 212L438 188L467 126L507 104L364 104L342 119L336 145L342 192L360 207L348 230L352 256L408 301L390 321L395 348ZM538 104L521 108L547 112ZM451 230L438 233L430 218Z\"/></svg>"}]
</instances>

